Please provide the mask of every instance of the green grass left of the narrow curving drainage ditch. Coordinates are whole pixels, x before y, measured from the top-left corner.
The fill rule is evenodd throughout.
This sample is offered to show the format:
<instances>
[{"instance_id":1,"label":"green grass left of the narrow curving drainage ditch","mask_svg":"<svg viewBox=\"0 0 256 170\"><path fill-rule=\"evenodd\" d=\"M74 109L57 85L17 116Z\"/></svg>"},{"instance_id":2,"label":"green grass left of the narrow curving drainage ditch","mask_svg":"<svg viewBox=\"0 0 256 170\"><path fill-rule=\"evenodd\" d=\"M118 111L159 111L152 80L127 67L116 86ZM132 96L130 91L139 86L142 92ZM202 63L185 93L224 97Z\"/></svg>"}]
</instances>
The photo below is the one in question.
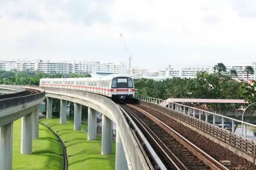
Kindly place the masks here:
<instances>
[{"instance_id":1,"label":"green grass left of the narrow curving drainage ditch","mask_svg":"<svg viewBox=\"0 0 256 170\"><path fill-rule=\"evenodd\" d=\"M33 153L20 154L21 119L13 125L13 170L62 170L62 148L56 136L39 124L39 138L33 139Z\"/></svg>"}]
</instances>

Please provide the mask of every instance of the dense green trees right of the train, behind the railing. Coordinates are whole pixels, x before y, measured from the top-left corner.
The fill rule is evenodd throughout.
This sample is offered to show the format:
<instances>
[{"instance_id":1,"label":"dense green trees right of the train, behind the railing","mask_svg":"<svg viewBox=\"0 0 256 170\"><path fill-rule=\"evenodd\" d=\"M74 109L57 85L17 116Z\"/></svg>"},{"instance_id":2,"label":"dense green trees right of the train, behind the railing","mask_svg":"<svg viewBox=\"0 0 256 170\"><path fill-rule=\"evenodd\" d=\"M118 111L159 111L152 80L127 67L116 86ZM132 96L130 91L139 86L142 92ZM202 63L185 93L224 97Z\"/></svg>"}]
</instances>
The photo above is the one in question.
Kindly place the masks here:
<instances>
[{"instance_id":1,"label":"dense green trees right of the train, behind the railing","mask_svg":"<svg viewBox=\"0 0 256 170\"><path fill-rule=\"evenodd\" d=\"M250 70L250 71L249 71ZM247 72L254 74L248 67ZM237 76L236 70L227 72L223 63L214 67L214 74L199 72L196 78L174 77L163 81L150 79L135 79L136 94L159 99L167 98L196 98L196 99L244 99L248 102L256 102L256 84L249 85L247 82L238 82L232 79ZM188 94L192 93L192 94ZM199 106L193 103L192 106ZM204 107L205 105L201 105ZM232 104L232 107L239 104ZM213 108L208 104L207 107ZM215 106L214 106L215 107ZM218 110L230 109L230 104L218 104Z\"/></svg>"}]
</instances>

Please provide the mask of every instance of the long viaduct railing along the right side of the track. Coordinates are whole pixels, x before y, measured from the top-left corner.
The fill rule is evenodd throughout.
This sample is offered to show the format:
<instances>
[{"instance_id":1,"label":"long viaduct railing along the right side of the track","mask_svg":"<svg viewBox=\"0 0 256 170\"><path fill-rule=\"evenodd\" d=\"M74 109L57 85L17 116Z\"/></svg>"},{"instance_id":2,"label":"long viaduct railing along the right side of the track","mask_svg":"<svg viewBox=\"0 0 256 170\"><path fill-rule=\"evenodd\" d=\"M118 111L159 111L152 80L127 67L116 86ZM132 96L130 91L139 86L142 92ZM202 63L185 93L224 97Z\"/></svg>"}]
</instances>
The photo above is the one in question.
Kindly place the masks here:
<instances>
[{"instance_id":1,"label":"long viaduct railing along the right side of the track","mask_svg":"<svg viewBox=\"0 0 256 170\"><path fill-rule=\"evenodd\" d=\"M214 142L256 164L256 142L232 133L234 132L236 122L253 127L256 127L256 125L179 103L166 102L161 99L144 96L136 97L140 99L141 104L150 106L173 117L183 125L192 128L203 136L207 136ZM199 118L196 118L196 113L199 113ZM201 119L202 115L205 116L205 120ZM210 116L212 117L212 124L208 121ZM215 126L216 117L221 118L221 128ZM232 132L224 128L225 119L232 122Z\"/></svg>"}]
</instances>

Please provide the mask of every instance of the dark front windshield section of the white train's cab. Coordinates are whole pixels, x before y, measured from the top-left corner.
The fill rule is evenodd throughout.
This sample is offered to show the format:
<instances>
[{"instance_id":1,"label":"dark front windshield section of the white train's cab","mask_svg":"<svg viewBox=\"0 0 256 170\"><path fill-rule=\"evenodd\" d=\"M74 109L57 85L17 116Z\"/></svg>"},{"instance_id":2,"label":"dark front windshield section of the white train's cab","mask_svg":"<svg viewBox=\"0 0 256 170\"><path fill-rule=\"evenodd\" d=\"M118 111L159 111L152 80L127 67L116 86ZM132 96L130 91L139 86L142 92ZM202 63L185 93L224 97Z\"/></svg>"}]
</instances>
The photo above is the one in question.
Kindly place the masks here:
<instances>
[{"instance_id":1,"label":"dark front windshield section of the white train's cab","mask_svg":"<svg viewBox=\"0 0 256 170\"><path fill-rule=\"evenodd\" d=\"M133 81L130 77L113 78L112 88L133 88Z\"/></svg>"}]
</instances>

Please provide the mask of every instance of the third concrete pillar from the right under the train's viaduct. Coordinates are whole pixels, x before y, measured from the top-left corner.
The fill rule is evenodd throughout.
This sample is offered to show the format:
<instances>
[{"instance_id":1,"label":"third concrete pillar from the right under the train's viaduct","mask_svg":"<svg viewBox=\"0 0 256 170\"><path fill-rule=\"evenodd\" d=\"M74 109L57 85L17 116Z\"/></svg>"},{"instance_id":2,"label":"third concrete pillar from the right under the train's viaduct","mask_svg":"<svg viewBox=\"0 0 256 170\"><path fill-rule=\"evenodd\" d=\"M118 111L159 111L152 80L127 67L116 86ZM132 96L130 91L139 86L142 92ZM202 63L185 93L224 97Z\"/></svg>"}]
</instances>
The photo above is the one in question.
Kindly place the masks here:
<instances>
[{"instance_id":1,"label":"third concrete pillar from the right under the train's viaduct","mask_svg":"<svg viewBox=\"0 0 256 170\"><path fill-rule=\"evenodd\" d=\"M87 140L96 140L97 112L88 107L88 133Z\"/></svg>"}]
</instances>

